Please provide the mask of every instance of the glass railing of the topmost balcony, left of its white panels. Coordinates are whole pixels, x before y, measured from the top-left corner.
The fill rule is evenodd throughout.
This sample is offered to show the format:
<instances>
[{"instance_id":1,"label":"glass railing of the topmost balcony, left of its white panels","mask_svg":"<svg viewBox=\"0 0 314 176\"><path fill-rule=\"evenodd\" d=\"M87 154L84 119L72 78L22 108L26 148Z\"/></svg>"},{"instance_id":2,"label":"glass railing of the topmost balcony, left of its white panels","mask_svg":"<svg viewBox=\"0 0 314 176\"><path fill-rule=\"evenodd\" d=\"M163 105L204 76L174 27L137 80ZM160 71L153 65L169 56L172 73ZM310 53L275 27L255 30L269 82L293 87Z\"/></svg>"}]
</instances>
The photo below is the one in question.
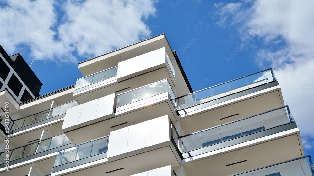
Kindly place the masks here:
<instances>
[{"instance_id":1,"label":"glass railing of the topmost balcony, left of its white panels","mask_svg":"<svg viewBox=\"0 0 314 176\"><path fill-rule=\"evenodd\" d=\"M118 66L76 80L74 90L117 76Z\"/></svg>"}]
</instances>

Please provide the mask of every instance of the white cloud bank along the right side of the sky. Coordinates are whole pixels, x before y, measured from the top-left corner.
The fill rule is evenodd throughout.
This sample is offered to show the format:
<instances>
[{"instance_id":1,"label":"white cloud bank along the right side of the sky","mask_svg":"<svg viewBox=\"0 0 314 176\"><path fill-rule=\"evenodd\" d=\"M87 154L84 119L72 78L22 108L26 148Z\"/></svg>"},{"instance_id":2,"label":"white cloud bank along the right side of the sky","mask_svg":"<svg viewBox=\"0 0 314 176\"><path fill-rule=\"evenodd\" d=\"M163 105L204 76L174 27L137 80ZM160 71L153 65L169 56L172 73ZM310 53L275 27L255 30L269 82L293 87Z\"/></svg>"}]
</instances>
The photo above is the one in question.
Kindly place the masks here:
<instances>
[{"instance_id":1,"label":"white cloud bank along the right side of the sky","mask_svg":"<svg viewBox=\"0 0 314 176\"><path fill-rule=\"evenodd\" d=\"M240 2L241 8L235 11L225 10L217 24L237 28L241 39L258 29L254 33L262 43L252 43L258 46L256 63L274 68L284 102L290 105L301 135L313 138L314 1L257 0L250 6L245 3ZM228 5L234 3L215 6L224 9Z\"/></svg>"}]
</instances>

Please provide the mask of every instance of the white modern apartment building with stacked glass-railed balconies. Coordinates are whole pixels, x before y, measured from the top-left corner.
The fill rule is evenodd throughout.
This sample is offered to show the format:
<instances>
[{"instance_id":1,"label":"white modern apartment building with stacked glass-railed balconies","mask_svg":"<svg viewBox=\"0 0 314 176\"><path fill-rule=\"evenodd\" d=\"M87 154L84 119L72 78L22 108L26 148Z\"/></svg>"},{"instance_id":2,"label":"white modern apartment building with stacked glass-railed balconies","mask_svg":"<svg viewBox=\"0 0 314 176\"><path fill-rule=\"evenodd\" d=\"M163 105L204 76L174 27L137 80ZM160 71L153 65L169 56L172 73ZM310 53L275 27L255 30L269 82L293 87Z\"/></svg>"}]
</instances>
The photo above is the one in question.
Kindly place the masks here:
<instances>
[{"instance_id":1,"label":"white modern apartment building with stacked glass-railed balconies","mask_svg":"<svg viewBox=\"0 0 314 176\"><path fill-rule=\"evenodd\" d=\"M23 103L0 92L1 175L314 176L271 68L193 92L163 34L78 68Z\"/></svg>"}]
</instances>

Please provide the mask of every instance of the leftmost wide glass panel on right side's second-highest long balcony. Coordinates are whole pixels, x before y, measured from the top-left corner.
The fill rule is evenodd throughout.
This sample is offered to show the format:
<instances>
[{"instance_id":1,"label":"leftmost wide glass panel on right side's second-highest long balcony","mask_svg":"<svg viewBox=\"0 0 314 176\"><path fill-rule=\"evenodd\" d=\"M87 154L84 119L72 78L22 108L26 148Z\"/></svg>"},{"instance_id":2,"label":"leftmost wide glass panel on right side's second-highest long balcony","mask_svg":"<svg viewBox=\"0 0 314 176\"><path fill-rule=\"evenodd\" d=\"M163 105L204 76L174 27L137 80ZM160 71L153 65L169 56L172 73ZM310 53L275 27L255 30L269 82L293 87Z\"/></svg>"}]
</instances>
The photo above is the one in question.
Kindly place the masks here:
<instances>
[{"instance_id":1,"label":"leftmost wide glass panel on right side's second-highest long balcony","mask_svg":"<svg viewBox=\"0 0 314 176\"><path fill-rule=\"evenodd\" d=\"M202 148L201 133L192 134L182 138L183 152Z\"/></svg>"}]
</instances>

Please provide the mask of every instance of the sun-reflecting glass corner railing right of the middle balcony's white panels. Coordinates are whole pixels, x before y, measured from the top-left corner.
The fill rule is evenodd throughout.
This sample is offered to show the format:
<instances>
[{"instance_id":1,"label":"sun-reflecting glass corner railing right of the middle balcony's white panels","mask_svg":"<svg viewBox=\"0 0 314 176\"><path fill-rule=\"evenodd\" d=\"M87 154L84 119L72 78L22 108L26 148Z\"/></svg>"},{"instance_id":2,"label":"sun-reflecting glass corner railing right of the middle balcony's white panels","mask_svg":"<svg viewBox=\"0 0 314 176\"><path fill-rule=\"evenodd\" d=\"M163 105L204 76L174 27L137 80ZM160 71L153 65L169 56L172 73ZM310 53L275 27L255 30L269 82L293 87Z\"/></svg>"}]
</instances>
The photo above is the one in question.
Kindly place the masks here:
<instances>
[{"instance_id":1,"label":"sun-reflecting glass corner railing right of the middle balcony's white panels","mask_svg":"<svg viewBox=\"0 0 314 176\"><path fill-rule=\"evenodd\" d=\"M126 104L134 103L139 100L143 100L149 97L153 97L160 93L168 92L171 98L171 101L176 105L175 99L176 96L173 93L173 90L168 82L168 80L163 80L157 83L152 83L147 86L137 88L120 95L117 95L116 107L120 107Z\"/></svg>"}]
</instances>

